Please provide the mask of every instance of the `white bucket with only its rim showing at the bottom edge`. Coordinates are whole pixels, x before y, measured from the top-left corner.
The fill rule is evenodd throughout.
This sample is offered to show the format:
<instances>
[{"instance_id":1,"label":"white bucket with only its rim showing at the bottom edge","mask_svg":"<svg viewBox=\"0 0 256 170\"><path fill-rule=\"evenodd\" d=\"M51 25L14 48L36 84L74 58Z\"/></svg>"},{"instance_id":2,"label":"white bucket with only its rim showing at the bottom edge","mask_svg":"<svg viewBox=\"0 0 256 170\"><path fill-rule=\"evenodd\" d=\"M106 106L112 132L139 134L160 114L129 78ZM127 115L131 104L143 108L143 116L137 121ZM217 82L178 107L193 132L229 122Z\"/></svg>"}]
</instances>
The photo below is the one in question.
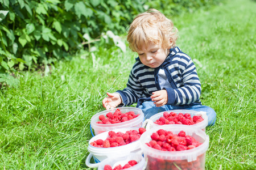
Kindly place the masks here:
<instances>
[{"instance_id":1,"label":"white bucket with only its rim showing at the bottom edge","mask_svg":"<svg viewBox=\"0 0 256 170\"><path fill-rule=\"evenodd\" d=\"M137 164L133 167L126 168L126 170L143 170L145 165L145 160L141 154L129 154L127 156L117 157L117 158L107 158L103 160L98 166L98 170L104 170L105 165L110 165L113 169L115 166L121 164L122 167L127 164L130 160L136 160Z\"/></svg>"}]
</instances>

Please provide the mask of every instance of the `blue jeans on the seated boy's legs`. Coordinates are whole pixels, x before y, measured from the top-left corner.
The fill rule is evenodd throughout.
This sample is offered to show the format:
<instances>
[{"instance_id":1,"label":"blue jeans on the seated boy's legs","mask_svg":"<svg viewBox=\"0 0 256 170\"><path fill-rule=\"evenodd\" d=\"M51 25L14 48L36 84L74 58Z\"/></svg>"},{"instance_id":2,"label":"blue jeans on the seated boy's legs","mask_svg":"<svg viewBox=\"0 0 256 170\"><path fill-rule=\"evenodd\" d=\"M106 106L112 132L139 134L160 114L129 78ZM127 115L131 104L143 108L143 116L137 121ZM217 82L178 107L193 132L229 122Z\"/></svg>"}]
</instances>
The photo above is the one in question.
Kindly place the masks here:
<instances>
[{"instance_id":1,"label":"blue jeans on the seated boy's legs","mask_svg":"<svg viewBox=\"0 0 256 170\"><path fill-rule=\"evenodd\" d=\"M138 106L139 109L142 109L144 113L145 119L150 118L156 113L176 110L176 109L187 109L193 111L203 111L207 113L208 116L208 126L212 126L215 124L216 121L216 112L205 105L182 105L182 106L175 106L175 105L163 105L162 107L156 107L153 101L144 101L141 105Z\"/></svg>"}]
</instances>

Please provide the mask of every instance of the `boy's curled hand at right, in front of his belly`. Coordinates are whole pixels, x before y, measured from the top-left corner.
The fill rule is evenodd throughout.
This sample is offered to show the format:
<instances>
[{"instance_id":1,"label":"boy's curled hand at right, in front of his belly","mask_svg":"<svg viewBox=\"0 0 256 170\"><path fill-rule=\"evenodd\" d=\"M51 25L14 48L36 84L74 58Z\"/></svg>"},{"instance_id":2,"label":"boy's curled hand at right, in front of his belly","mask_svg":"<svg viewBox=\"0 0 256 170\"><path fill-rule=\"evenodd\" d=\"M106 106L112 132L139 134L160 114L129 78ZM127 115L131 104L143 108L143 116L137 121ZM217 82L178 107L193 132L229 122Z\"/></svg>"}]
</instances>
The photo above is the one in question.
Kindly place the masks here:
<instances>
[{"instance_id":1,"label":"boy's curled hand at right, in front of his belly","mask_svg":"<svg viewBox=\"0 0 256 170\"><path fill-rule=\"evenodd\" d=\"M154 104L156 107L162 107L163 105L167 104L168 96L166 90L159 90L152 92L152 96L150 98L152 101L155 101Z\"/></svg>"}]
</instances>

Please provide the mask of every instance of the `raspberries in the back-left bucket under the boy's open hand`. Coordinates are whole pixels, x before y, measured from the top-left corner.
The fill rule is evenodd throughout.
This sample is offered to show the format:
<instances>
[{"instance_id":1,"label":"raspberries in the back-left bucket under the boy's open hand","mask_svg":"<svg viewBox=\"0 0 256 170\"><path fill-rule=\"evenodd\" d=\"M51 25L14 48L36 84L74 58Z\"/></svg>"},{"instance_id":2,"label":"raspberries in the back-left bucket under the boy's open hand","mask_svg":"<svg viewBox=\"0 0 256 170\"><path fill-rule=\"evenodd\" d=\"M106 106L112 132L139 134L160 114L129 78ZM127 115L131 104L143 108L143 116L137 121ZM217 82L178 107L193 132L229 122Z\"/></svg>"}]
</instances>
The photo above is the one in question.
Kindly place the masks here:
<instances>
[{"instance_id":1,"label":"raspberries in the back-left bucket under the boy's open hand","mask_svg":"<svg viewBox=\"0 0 256 170\"><path fill-rule=\"evenodd\" d=\"M139 115L141 114L135 114L133 111L122 113L120 109L116 109L114 113L107 113L106 117L103 114L98 116L98 119L100 121L96 122L96 124L117 124L132 120L138 117Z\"/></svg>"}]
</instances>

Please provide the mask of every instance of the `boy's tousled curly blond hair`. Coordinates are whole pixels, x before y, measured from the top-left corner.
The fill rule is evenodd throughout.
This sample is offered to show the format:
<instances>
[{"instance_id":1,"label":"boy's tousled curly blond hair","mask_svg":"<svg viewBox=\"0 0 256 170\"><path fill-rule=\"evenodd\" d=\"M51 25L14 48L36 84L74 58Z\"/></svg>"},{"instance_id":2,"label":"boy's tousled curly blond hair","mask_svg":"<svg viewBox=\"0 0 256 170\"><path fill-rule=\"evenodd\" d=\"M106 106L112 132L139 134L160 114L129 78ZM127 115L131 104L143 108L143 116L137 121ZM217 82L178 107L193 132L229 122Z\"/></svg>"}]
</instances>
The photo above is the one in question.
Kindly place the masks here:
<instances>
[{"instance_id":1,"label":"boy's tousled curly blond hair","mask_svg":"<svg viewBox=\"0 0 256 170\"><path fill-rule=\"evenodd\" d=\"M173 48L176 45L177 28L170 19L155 9L149 9L138 14L129 26L127 41L134 52L139 53L144 45L150 42L163 49Z\"/></svg>"}]
</instances>

